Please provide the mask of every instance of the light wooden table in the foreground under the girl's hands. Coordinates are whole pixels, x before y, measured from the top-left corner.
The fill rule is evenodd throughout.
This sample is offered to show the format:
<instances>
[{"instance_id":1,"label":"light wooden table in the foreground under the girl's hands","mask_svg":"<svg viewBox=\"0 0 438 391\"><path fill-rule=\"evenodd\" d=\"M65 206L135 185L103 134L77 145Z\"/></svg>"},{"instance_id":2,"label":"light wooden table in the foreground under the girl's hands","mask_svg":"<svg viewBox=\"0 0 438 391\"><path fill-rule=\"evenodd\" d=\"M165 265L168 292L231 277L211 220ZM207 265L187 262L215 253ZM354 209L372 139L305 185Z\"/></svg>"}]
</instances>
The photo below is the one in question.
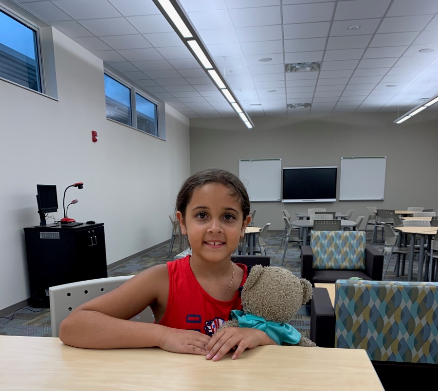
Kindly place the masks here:
<instances>
[{"instance_id":1,"label":"light wooden table in the foreground under the girl's hands","mask_svg":"<svg viewBox=\"0 0 438 391\"><path fill-rule=\"evenodd\" d=\"M365 350L259 346L237 360L159 348L94 350L0 336L0 389L25 391L383 391Z\"/></svg>"}]
</instances>

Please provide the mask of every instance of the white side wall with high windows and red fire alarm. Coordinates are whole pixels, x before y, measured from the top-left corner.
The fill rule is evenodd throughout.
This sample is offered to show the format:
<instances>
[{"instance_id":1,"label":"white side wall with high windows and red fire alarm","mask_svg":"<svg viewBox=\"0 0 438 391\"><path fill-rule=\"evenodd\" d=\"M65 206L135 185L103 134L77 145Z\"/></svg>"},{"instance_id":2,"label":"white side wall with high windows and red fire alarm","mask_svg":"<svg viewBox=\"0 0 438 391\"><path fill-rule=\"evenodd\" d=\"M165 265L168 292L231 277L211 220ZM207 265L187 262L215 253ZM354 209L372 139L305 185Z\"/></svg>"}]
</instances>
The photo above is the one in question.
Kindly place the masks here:
<instances>
[{"instance_id":1,"label":"white side wall with high windows and red fire alarm","mask_svg":"<svg viewBox=\"0 0 438 391\"><path fill-rule=\"evenodd\" d=\"M30 297L23 227L39 224L37 183L65 187L76 221L105 223L107 263L168 239L190 175L189 121L166 106L166 139L106 119L103 62L54 29L59 101L0 80L0 309ZM91 130L99 135L91 141Z\"/></svg>"}]
</instances>

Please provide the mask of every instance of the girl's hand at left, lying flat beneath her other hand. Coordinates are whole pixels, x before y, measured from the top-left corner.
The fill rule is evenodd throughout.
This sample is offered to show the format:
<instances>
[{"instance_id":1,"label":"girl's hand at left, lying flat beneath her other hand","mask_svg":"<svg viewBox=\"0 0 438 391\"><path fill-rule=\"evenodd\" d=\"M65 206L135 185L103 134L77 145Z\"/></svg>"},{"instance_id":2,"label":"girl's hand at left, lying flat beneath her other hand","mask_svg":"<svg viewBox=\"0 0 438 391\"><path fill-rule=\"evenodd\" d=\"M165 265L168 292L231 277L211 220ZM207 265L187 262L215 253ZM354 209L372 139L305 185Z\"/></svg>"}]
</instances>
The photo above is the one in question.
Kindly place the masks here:
<instances>
[{"instance_id":1,"label":"girl's hand at left, lying flat beneath her other hand","mask_svg":"<svg viewBox=\"0 0 438 391\"><path fill-rule=\"evenodd\" d=\"M169 328L161 338L160 348L173 353L206 355L211 337L199 331Z\"/></svg>"}]
</instances>

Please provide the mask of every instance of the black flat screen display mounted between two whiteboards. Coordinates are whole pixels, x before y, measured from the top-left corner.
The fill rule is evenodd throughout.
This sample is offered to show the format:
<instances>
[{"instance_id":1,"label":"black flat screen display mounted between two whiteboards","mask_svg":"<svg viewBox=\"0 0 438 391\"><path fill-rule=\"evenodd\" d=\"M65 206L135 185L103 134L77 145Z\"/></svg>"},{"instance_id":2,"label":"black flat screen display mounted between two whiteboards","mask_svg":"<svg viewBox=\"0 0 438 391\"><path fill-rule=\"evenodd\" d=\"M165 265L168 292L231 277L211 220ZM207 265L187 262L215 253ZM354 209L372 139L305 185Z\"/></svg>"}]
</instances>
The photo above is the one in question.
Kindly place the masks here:
<instances>
[{"instance_id":1,"label":"black flat screen display mounted between two whiteboards","mask_svg":"<svg viewBox=\"0 0 438 391\"><path fill-rule=\"evenodd\" d=\"M336 201L337 167L283 168L283 202Z\"/></svg>"}]
</instances>

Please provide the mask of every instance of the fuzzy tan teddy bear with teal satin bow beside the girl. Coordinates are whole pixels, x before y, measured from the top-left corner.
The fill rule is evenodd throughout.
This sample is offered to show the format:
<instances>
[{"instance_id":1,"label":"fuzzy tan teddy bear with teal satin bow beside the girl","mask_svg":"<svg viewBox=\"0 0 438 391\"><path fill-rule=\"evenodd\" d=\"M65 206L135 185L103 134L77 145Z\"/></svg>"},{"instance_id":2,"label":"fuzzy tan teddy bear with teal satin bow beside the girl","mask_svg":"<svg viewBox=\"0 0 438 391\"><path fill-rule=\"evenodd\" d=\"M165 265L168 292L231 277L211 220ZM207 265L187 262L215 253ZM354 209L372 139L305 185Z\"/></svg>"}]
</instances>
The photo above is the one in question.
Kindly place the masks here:
<instances>
[{"instance_id":1,"label":"fuzzy tan teddy bear with teal satin bow beside the girl","mask_svg":"<svg viewBox=\"0 0 438 391\"><path fill-rule=\"evenodd\" d=\"M251 268L241 291L243 311L233 310L225 327L254 327L265 331L278 345L316 347L289 322L312 297L312 285L283 267Z\"/></svg>"}]
</instances>

